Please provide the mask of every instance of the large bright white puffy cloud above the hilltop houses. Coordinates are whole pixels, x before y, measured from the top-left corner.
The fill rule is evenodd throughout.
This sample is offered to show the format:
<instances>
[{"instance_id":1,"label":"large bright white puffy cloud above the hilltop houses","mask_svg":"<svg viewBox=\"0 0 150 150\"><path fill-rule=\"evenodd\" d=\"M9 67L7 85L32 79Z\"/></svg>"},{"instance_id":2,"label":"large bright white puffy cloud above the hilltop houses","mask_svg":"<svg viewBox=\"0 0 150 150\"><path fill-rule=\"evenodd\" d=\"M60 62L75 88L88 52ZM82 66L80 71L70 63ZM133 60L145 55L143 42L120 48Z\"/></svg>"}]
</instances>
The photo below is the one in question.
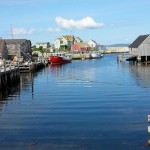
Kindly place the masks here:
<instances>
[{"instance_id":1,"label":"large bright white puffy cloud above the hilltop houses","mask_svg":"<svg viewBox=\"0 0 150 150\"><path fill-rule=\"evenodd\" d=\"M104 23L96 22L91 17L85 17L81 20L65 19L63 17L56 17L57 25L63 29L96 29L104 26Z\"/></svg>"}]
</instances>

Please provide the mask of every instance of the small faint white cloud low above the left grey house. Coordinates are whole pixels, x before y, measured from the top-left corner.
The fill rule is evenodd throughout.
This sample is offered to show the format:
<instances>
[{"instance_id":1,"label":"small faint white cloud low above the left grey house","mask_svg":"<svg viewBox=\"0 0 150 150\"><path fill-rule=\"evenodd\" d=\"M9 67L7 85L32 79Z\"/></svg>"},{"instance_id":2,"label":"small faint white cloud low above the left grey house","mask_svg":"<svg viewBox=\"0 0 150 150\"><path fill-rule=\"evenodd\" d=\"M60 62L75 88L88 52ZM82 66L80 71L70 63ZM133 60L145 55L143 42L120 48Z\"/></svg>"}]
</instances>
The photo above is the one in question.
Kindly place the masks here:
<instances>
[{"instance_id":1,"label":"small faint white cloud low above the left grey house","mask_svg":"<svg viewBox=\"0 0 150 150\"><path fill-rule=\"evenodd\" d=\"M26 30L24 28L13 28L12 32L14 35L17 34L32 34L35 31L35 29L31 28L29 30Z\"/></svg>"}]
</instances>

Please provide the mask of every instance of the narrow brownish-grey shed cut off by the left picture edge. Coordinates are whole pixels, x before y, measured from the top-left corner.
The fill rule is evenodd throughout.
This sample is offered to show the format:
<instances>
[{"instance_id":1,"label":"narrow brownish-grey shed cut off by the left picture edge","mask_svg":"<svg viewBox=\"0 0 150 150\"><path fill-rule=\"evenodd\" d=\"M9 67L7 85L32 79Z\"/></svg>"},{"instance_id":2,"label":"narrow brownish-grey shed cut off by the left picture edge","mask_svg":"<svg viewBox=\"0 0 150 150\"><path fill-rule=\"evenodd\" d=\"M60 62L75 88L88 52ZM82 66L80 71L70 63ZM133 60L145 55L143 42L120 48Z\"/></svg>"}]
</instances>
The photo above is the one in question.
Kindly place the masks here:
<instances>
[{"instance_id":1,"label":"narrow brownish-grey shed cut off by the left picture edge","mask_svg":"<svg viewBox=\"0 0 150 150\"><path fill-rule=\"evenodd\" d=\"M0 59L8 59L8 49L5 40L0 40Z\"/></svg>"}]
</instances>

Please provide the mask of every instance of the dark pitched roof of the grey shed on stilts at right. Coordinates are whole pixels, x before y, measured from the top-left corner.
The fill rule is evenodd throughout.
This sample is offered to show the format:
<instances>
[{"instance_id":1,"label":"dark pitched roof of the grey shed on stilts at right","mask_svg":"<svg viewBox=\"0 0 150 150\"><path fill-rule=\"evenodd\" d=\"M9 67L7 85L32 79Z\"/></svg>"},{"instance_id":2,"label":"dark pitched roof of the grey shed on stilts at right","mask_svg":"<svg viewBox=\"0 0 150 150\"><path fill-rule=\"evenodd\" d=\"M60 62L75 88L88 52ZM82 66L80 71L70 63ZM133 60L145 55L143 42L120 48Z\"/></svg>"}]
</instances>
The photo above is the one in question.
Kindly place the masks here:
<instances>
[{"instance_id":1,"label":"dark pitched roof of the grey shed on stilts at right","mask_svg":"<svg viewBox=\"0 0 150 150\"><path fill-rule=\"evenodd\" d=\"M130 48L138 48L141 43L149 36L147 35L140 35L131 45L129 45Z\"/></svg>"}]
</instances>

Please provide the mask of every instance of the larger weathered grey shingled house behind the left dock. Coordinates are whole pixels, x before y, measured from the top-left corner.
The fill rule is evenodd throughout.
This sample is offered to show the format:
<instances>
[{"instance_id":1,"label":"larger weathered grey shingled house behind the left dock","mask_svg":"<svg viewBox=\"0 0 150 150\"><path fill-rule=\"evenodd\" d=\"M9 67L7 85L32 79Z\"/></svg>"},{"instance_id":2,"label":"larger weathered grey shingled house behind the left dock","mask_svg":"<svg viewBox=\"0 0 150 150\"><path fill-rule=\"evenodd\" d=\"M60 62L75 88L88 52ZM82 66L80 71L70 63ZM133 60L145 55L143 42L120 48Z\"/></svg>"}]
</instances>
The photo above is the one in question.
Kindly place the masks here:
<instances>
[{"instance_id":1,"label":"larger weathered grey shingled house behind the left dock","mask_svg":"<svg viewBox=\"0 0 150 150\"><path fill-rule=\"evenodd\" d=\"M31 41L26 39L5 39L8 59L17 56L19 59L30 60L32 55Z\"/></svg>"}]
</instances>

